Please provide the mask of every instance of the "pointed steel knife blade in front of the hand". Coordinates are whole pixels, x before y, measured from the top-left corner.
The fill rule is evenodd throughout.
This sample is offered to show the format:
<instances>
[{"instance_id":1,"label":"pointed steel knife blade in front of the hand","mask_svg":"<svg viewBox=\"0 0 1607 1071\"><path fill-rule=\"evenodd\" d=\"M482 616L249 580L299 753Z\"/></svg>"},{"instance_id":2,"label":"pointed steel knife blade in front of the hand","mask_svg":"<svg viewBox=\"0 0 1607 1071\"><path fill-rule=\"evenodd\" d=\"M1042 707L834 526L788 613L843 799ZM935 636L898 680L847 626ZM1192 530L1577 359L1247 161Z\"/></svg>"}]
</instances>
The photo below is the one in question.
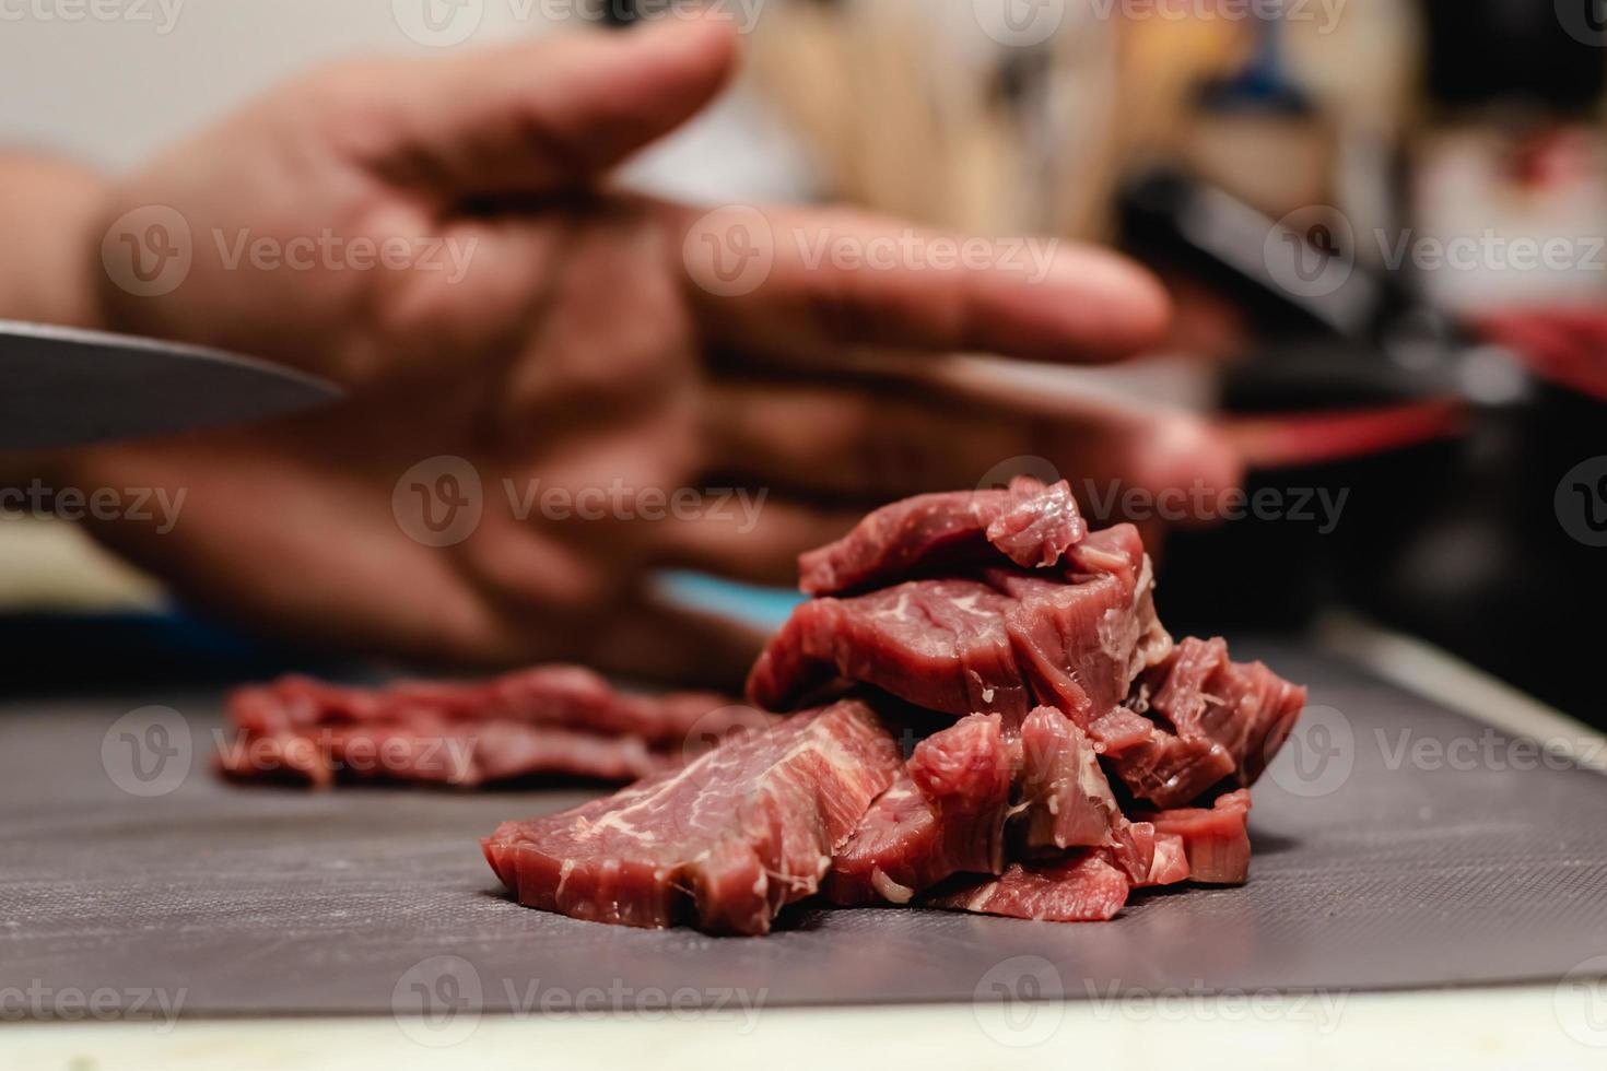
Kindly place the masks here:
<instances>
[{"instance_id":1,"label":"pointed steel knife blade in front of the hand","mask_svg":"<svg viewBox=\"0 0 1607 1071\"><path fill-rule=\"evenodd\" d=\"M339 397L317 376L235 353L0 321L0 450L244 424Z\"/></svg>"}]
</instances>

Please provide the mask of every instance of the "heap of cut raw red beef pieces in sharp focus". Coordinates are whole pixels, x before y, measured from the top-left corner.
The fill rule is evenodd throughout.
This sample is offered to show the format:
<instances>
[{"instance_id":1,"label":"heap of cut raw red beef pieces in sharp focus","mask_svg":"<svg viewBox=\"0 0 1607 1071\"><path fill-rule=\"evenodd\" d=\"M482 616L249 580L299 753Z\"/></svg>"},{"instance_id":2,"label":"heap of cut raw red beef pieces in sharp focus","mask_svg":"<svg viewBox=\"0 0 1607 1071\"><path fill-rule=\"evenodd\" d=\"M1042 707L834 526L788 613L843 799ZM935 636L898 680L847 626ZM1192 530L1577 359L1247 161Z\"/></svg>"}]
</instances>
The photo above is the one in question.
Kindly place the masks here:
<instances>
[{"instance_id":1,"label":"heap of cut raw red beef pieces in sharp focus","mask_svg":"<svg viewBox=\"0 0 1607 1071\"><path fill-rule=\"evenodd\" d=\"M1110 918L1244 882L1249 785L1305 690L1155 620L1138 531L1070 488L911 498L805 554L749 678L797 711L606 800L485 838L517 899L767 933L787 904Z\"/></svg>"}]
</instances>

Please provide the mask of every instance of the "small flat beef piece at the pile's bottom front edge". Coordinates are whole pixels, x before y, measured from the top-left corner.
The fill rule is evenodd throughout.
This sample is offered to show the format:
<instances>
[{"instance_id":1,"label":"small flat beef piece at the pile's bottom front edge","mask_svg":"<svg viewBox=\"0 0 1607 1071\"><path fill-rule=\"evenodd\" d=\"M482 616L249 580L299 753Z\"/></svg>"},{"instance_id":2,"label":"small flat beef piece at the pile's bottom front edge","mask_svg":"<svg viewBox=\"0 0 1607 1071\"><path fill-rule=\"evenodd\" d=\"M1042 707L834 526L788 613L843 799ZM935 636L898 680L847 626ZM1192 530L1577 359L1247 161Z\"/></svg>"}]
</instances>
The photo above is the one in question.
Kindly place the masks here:
<instances>
[{"instance_id":1,"label":"small flat beef piece at the pile's bottom front edge","mask_svg":"<svg viewBox=\"0 0 1607 1071\"><path fill-rule=\"evenodd\" d=\"M1012 862L996 878L969 878L922 899L932 907L1040 922L1104 922L1127 904L1127 875L1091 848L1056 862Z\"/></svg>"}]
</instances>

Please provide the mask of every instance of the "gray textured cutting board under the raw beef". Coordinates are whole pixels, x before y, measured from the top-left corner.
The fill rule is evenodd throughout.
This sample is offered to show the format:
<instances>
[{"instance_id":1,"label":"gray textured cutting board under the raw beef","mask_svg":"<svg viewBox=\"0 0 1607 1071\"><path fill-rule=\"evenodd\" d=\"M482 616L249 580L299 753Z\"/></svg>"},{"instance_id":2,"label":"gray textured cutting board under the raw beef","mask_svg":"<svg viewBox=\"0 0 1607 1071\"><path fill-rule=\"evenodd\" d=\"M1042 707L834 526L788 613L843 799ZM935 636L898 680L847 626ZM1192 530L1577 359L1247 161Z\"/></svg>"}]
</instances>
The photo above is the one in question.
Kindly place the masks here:
<instances>
[{"instance_id":1,"label":"gray textured cutting board under the raw beef","mask_svg":"<svg viewBox=\"0 0 1607 1071\"><path fill-rule=\"evenodd\" d=\"M1154 894L1102 925L800 909L767 939L505 899L476 838L585 793L230 787L206 764L217 695L11 703L0 986L182 988L186 1015L382 1013L447 973L448 992L490 1012L588 986L775 1007L971 1000L1001 971L1017 994L1027 971L1069 997L1556 979L1607 952L1607 780L1538 764L1332 658L1252 650L1311 684L1318 713L1257 787L1249 886ZM108 727L141 703L191 726L190 774L148 798L108 776L129 780L116 734L103 758ZM1398 761L1403 740L1419 761ZM1437 745L1456 758L1433 761ZM175 780L172 763L151 785Z\"/></svg>"}]
</instances>

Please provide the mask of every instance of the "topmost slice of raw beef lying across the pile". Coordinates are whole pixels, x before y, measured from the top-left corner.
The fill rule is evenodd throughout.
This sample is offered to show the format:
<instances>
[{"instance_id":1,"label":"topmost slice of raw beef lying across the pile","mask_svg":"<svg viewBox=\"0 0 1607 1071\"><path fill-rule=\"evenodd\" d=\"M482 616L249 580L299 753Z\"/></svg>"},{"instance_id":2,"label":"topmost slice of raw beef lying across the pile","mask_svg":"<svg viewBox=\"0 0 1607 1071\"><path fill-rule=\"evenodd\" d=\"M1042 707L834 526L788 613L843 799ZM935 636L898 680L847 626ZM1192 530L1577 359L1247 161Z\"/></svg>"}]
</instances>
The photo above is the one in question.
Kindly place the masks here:
<instances>
[{"instance_id":1,"label":"topmost slice of raw beef lying across the pile","mask_svg":"<svg viewBox=\"0 0 1607 1071\"><path fill-rule=\"evenodd\" d=\"M800 556L799 588L812 596L840 594L1001 554L1022 568L1048 568L1086 533L1065 480L1045 487L1019 477L1009 490L918 495Z\"/></svg>"}]
</instances>

